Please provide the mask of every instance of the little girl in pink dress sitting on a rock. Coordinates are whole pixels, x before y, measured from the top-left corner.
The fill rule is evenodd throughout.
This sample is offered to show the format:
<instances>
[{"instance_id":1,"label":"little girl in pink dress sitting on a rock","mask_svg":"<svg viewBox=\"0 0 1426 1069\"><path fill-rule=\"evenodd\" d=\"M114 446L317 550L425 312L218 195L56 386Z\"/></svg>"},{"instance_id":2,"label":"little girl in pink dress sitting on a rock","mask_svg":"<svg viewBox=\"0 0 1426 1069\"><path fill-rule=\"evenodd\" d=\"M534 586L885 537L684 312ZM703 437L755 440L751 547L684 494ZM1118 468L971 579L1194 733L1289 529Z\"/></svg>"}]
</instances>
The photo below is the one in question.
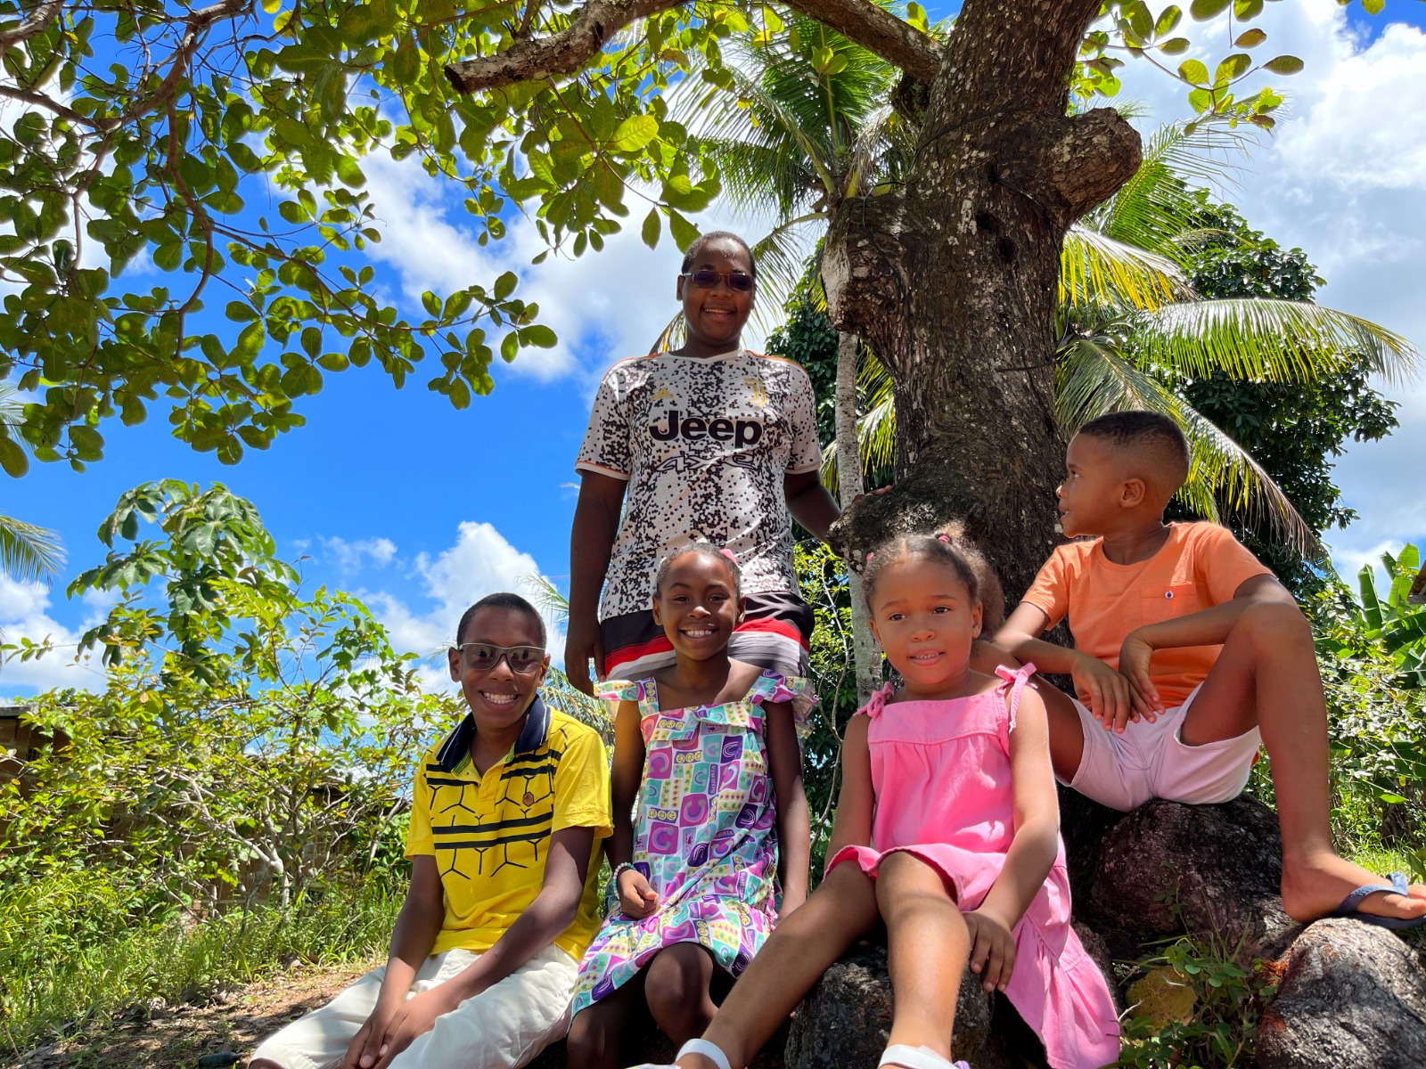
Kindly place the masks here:
<instances>
[{"instance_id":1,"label":"little girl in pink dress sitting on a rock","mask_svg":"<svg viewBox=\"0 0 1426 1069\"><path fill-rule=\"evenodd\" d=\"M746 1066L878 916L896 995L881 1065L950 1069L967 964L1035 1029L1054 1069L1118 1058L1109 989L1070 926L1034 667L1002 678L970 667L980 574L978 554L944 533L868 554L871 630L904 681L847 725L826 878L683 1046L680 1069Z\"/></svg>"}]
</instances>

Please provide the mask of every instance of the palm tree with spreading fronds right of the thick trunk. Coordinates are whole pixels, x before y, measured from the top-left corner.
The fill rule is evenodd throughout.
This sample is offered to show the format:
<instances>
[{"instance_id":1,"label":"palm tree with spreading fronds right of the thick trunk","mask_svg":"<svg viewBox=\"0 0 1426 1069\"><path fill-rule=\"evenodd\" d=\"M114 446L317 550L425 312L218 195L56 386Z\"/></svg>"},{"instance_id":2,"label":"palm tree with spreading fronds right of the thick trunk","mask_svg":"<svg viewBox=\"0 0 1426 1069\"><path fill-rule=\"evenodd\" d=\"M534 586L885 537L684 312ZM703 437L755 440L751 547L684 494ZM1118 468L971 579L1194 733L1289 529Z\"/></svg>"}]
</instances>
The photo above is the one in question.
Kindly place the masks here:
<instances>
[{"instance_id":1,"label":"palm tree with spreading fronds right of the thick trunk","mask_svg":"<svg viewBox=\"0 0 1426 1069\"><path fill-rule=\"evenodd\" d=\"M1221 502L1263 515L1285 543L1313 559L1322 554L1318 533L1276 483L1166 382L1214 371L1303 382L1362 359L1387 381L1402 381L1413 373L1416 352L1400 335L1330 308L1268 298L1205 301L1194 292L1182 262L1208 235L1195 228L1191 184L1222 181L1225 160L1245 148L1232 131L1164 127L1138 174L1071 229L1060 271L1057 413L1067 433L1129 408L1171 416L1194 448L1184 503L1211 519L1219 519ZM876 361L863 365L861 392L864 463L890 468L896 398ZM824 469L834 465L834 456L824 456Z\"/></svg>"}]
</instances>

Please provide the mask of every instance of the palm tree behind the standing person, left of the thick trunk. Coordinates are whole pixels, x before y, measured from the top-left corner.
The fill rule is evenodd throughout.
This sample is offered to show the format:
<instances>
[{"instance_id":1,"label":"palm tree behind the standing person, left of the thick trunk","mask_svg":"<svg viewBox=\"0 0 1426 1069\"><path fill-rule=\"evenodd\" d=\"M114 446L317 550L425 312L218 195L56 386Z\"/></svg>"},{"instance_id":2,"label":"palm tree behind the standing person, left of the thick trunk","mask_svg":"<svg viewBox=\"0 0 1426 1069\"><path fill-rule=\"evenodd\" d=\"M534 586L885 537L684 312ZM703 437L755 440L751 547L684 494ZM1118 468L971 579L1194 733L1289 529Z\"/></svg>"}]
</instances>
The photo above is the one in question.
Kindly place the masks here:
<instances>
[{"instance_id":1,"label":"palm tree behind the standing person, left of the thick trunk","mask_svg":"<svg viewBox=\"0 0 1426 1069\"><path fill-rule=\"evenodd\" d=\"M717 160L724 197L742 212L776 220L753 244L766 318L781 311L837 208L901 180L914 131L890 104L900 71L806 16L794 16L786 34L739 38L727 68L726 88L684 78L670 110ZM660 348L677 326L674 319ZM837 439L848 450L857 440L857 336L838 334ZM847 507L864 489L861 465L848 465L830 489ZM857 696L866 701L880 683L880 660L860 577L850 584Z\"/></svg>"}]
</instances>

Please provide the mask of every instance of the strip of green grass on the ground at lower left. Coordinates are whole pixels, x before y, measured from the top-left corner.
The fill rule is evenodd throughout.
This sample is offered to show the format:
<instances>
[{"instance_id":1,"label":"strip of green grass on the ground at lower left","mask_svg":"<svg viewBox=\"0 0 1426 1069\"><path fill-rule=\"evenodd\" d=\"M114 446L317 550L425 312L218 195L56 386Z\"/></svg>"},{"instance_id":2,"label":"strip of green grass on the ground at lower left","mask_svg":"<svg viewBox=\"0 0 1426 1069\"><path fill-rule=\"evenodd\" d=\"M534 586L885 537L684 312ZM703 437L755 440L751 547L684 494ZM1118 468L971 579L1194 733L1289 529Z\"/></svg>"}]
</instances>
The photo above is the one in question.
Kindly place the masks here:
<instances>
[{"instance_id":1,"label":"strip of green grass on the ground at lower left","mask_svg":"<svg viewBox=\"0 0 1426 1069\"><path fill-rule=\"evenodd\" d=\"M0 894L0 1053L19 1055L150 999L178 1003L251 983L294 956L368 958L386 946L405 894L371 878L287 909L258 905L185 925L123 918L123 897L101 878L67 879L71 887Z\"/></svg>"}]
</instances>

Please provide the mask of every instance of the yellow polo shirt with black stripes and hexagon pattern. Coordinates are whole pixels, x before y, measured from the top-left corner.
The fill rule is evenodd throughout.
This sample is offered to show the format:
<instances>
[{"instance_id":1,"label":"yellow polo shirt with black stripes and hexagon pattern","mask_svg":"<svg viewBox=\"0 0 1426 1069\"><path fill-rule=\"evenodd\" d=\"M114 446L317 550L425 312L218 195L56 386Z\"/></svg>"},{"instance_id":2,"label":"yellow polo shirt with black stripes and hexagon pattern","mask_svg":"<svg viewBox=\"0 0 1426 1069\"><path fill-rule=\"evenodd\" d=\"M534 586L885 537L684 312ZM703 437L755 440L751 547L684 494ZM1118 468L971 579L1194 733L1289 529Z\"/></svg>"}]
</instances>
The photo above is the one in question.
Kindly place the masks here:
<instances>
[{"instance_id":1,"label":"yellow polo shirt with black stripes and hexagon pattern","mask_svg":"<svg viewBox=\"0 0 1426 1069\"><path fill-rule=\"evenodd\" d=\"M511 753L481 775L473 734L466 714L416 770L406 857L434 857L445 892L431 952L493 946L540 892L550 835L593 828L579 914L555 939L578 961L599 931L599 854L613 830L603 740L536 697Z\"/></svg>"}]
</instances>

